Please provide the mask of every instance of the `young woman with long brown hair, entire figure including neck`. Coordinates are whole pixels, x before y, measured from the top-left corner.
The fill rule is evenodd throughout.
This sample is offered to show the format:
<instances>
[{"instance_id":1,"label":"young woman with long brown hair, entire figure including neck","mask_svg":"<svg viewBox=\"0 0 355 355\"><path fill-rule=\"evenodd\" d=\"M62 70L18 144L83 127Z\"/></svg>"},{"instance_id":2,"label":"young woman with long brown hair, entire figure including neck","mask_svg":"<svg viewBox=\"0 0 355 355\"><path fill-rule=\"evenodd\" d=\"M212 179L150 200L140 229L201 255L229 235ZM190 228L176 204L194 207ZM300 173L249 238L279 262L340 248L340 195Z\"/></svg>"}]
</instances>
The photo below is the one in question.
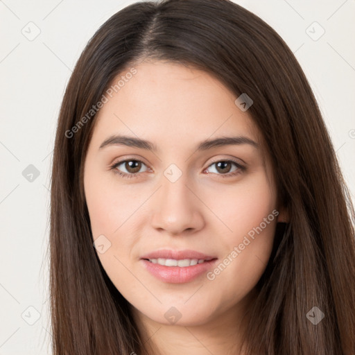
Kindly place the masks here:
<instances>
[{"instance_id":1,"label":"young woman with long brown hair, entire figure including neck","mask_svg":"<svg viewBox=\"0 0 355 355\"><path fill-rule=\"evenodd\" d=\"M354 354L353 222L270 26L227 0L128 6L60 111L53 354Z\"/></svg>"}]
</instances>

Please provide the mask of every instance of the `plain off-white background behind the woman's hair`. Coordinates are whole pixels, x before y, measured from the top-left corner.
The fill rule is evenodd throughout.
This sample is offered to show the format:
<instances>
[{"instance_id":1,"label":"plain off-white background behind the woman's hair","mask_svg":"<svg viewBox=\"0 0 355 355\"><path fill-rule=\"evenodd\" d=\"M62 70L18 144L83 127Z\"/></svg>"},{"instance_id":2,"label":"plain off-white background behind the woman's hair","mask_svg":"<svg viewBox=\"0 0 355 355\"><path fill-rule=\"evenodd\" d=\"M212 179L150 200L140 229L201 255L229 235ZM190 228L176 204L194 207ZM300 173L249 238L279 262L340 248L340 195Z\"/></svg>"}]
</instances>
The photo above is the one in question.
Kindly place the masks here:
<instances>
[{"instance_id":1,"label":"plain off-white background behind the woman's hair","mask_svg":"<svg viewBox=\"0 0 355 355\"><path fill-rule=\"evenodd\" d=\"M46 248L60 103L89 38L133 2L0 1L0 355L51 354ZM295 53L354 196L355 1L235 2Z\"/></svg>"}]
</instances>

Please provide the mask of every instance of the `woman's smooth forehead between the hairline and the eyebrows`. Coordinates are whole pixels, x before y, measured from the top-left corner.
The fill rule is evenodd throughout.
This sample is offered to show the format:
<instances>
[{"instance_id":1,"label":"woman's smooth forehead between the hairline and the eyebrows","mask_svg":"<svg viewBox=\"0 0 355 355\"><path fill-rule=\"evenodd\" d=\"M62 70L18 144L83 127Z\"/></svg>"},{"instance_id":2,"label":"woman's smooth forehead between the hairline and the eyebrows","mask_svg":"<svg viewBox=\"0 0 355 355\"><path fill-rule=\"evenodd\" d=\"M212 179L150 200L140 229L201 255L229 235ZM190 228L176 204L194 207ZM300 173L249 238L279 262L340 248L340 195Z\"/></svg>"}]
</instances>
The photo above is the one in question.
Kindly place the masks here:
<instances>
[{"instance_id":1,"label":"woman's smooth forehead between the hairline and the eyebrows","mask_svg":"<svg viewBox=\"0 0 355 355\"><path fill-rule=\"evenodd\" d=\"M118 132L170 148L226 135L259 141L250 115L234 103L236 95L206 71L162 61L141 62L134 68L134 76L125 76L130 68L121 72L112 88L123 79L121 85L105 94L107 102L96 116L96 144Z\"/></svg>"}]
</instances>

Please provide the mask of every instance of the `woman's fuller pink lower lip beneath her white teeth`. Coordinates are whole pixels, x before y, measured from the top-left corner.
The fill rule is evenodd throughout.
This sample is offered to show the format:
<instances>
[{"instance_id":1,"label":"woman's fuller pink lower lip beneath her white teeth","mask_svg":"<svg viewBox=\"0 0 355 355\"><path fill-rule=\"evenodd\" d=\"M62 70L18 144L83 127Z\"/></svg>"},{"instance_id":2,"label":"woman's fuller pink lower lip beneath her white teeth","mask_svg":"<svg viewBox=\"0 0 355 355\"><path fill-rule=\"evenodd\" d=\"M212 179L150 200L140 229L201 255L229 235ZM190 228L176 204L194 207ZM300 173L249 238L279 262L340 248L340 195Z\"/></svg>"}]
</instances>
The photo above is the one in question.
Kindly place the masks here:
<instances>
[{"instance_id":1,"label":"woman's fuller pink lower lip beneath her white teeth","mask_svg":"<svg viewBox=\"0 0 355 355\"><path fill-rule=\"evenodd\" d=\"M198 263L193 266L185 266L183 268L180 268L180 266L163 266L145 259L141 259L141 261L144 263L145 268L162 282L184 284L210 270L217 259L204 261L203 263Z\"/></svg>"}]
</instances>

